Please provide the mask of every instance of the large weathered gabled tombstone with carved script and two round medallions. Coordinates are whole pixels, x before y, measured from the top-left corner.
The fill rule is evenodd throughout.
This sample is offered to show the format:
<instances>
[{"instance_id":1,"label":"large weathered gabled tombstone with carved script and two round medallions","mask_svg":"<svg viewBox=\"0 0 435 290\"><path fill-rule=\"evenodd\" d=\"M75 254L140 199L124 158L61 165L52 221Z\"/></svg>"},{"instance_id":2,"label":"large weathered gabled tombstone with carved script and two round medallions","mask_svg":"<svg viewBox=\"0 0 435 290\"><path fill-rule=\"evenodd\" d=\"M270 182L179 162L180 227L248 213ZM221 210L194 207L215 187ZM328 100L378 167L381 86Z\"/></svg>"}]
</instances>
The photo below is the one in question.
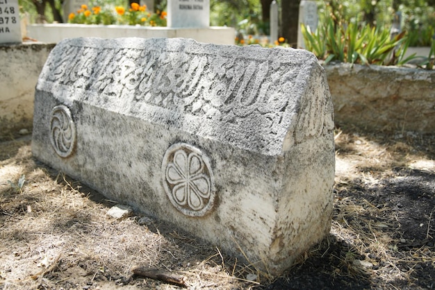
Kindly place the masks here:
<instances>
[{"instance_id":1,"label":"large weathered gabled tombstone with carved script and two round medallions","mask_svg":"<svg viewBox=\"0 0 435 290\"><path fill-rule=\"evenodd\" d=\"M333 109L308 51L64 40L33 123L42 162L272 275L329 232Z\"/></svg>"}]
</instances>

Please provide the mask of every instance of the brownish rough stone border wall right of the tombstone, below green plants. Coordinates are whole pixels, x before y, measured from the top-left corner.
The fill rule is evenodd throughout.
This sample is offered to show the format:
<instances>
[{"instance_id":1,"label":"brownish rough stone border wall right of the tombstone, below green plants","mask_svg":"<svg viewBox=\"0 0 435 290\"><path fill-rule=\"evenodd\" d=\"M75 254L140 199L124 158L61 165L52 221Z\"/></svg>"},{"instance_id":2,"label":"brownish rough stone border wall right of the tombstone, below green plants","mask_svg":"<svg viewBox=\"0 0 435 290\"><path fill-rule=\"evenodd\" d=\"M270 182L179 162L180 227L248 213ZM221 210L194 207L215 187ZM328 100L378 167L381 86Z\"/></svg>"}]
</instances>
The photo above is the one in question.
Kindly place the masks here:
<instances>
[{"instance_id":1,"label":"brownish rough stone border wall right of the tombstone, below green plants","mask_svg":"<svg viewBox=\"0 0 435 290\"><path fill-rule=\"evenodd\" d=\"M435 133L435 70L327 65L338 126Z\"/></svg>"}]
</instances>

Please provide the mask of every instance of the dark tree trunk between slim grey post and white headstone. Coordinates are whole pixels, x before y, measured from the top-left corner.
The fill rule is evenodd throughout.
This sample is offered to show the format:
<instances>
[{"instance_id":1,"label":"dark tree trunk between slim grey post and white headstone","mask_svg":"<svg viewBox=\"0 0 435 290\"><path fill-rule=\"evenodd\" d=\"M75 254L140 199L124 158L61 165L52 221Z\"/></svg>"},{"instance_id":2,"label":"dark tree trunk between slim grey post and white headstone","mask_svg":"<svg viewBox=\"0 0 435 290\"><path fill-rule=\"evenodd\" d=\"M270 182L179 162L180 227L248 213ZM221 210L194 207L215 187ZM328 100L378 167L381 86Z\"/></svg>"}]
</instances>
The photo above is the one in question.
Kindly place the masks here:
<instances>
[{"instance_id":1,"label":"dark tree trunk between slim grey post and white headstone","mask_svg":"<svg viewBox=\"0 0 435 290\"><path fill-rule=\"evenodd\" d=\"M300 0L281 1L281 35L293 47L297 46L299 3Z\"/></svg>"}]
</instances>

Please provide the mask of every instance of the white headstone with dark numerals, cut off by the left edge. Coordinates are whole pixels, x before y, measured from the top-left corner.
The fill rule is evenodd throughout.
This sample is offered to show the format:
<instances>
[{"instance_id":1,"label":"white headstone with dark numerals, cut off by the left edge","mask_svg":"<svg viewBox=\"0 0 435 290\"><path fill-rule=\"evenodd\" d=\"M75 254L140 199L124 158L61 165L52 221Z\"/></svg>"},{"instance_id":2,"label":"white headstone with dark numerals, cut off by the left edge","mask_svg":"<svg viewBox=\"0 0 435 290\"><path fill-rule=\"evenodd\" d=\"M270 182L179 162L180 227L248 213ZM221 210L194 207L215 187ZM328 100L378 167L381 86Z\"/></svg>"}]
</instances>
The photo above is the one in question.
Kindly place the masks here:
<instances>
[{"instance_id":1,"label":"white headstone with dark numerals, cut off by the left edge","mask_svg":"<svg viewBox=\"0 0 435 290\"><path fill-rule=\"evenodd\" d=\"M0 0L0 43L22 42L18 0Z\"/></svg>"}]
</instances>

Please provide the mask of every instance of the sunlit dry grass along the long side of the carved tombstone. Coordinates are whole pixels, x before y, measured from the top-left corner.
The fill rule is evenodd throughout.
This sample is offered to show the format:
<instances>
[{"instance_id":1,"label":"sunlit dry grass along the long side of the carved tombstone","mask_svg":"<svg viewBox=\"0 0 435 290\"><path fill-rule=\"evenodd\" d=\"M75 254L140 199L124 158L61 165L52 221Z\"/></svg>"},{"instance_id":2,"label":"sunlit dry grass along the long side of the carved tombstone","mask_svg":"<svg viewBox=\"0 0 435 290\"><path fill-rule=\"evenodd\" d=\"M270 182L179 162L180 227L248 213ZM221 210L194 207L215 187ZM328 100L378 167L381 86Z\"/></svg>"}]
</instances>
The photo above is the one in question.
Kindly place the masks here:
<instances>
[{"instance_id":1,"label":"sunlit dry grass along the long side of the carved tombstone","mask_svg":"<svg viewBox=\"0 0 435 290\"><path fill-rule=\"evenodd\" d=\"M0 161L0 289L177 288L131 282L137 265L178 271L193 288L259 284L243 278L254 267L170 225L152 219L142 224L140 215L108 218L115 203L33 160L28 138L3 148L15 156L3 153ZM10 182L17 185L22 174L24 186L13 187Z\"/></svg>"}]
</instances>

